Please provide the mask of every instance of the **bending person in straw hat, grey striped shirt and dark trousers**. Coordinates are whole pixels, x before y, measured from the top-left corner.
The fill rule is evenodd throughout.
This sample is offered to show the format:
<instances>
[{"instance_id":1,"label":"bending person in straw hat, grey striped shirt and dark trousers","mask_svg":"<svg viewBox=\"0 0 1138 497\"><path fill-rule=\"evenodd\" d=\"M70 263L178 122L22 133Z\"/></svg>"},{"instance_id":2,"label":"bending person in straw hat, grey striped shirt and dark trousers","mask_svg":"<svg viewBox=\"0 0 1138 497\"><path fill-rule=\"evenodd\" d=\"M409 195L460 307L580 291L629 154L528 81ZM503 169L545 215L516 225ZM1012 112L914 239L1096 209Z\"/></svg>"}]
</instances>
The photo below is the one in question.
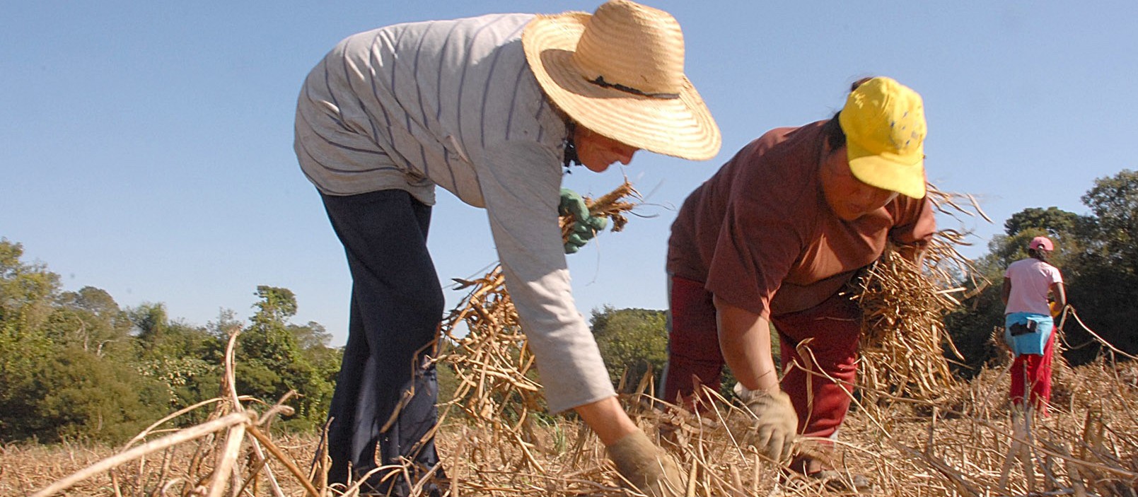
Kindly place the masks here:
<instances>
[{"instance_id":1,"label":"bending person in straw hat, grey striped shirt and dark trousers","mask_svg":"<svg viewBox=\"0 0 1138 497\"><path fill-rule=\"evenodd\" d=\"M330 478L399 457L435 470L435 371L424 361L444 299L426 239L435 187L484 207L550 411L576 411L624 477L678 484L617 403L570 295L566 252L602 226L560 190L562 165L601 172L638 149L703 160L719 130L684 75L665 11L613 0L592 15L488 15L352 35L308 75L295 149L353 278L344 363L329 414ZM562 246L559 207L582 240ZM406 394L406 395L405 395ZM406 398L403 398L406 397ZM401 398L403 404L401 404ZM429 469L429 470L428 470ZM374 477L370 491L393 480ZM396 492L410 482L399 479Z\"/></svg>"}]
</instances>

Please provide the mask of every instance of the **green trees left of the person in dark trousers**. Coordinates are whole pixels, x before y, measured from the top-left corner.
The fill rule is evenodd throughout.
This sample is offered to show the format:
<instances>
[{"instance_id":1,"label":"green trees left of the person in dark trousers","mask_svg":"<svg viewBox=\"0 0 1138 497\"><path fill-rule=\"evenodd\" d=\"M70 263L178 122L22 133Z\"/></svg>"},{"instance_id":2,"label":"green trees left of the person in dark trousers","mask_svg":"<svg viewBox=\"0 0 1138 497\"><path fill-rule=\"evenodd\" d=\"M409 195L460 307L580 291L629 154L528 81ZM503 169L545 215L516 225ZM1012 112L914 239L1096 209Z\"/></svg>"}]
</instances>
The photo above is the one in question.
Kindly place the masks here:
<instances>
[{"instance_id":1,"label":"green trees left of the person in dark trousers","mask_svg":"<svg viewBox=\"0 0 1138 497\"><path fill-rule=\"evenodd\" d=\"M171 320L163 304L119 307L106 291L63 291L59 275L23 260L0 240L0 442L64 439L117 442L182 407L221 395L232 330L237 390L275 401L290 390L297 409L283 424L319 426L340 351L318 323L296 325L296 296L257 287L254 314L223 310L206 326ZM204 421L209 409L180 419Z\"/></svg>"}]
</instances>

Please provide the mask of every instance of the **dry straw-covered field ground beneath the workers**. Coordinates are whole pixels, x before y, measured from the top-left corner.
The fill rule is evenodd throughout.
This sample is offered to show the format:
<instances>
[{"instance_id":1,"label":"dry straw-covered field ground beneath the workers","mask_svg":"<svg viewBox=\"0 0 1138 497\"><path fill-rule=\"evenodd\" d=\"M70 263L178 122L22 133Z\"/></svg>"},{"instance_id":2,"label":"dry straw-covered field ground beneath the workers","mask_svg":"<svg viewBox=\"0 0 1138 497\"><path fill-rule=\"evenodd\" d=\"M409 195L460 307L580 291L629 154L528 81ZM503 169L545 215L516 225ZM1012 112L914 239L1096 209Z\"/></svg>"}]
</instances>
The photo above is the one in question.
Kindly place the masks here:
<instances>
[{"instance_id":1,"label":"dry straw-covered field ground beneath the workers","mask_svg":"<svg viewBox=\"0 0 1138 497\"><path fill-rule=\"evenodd\" d=\"M1102 362L1072 370L1059 365L1055 383L1052 415L1039 420L1024 440L1030 448L1026 466L1022 461L1007 464L1013 430L1003 366L986 370L938 403L898 401L857 408L842 429L835 462L869 477L875 495L1136 495L1138 366ZM638 411L638 421L651 433L661 422L669 422L666 417L676 423L674 416L658 411ZM780 484L773 465L731 441L724 426L734 425L739 416L739 412L720 406L702 422L685 422L687 429L681 431L686 437L679 437L682 448L674 452L694 477L688 495L843 495L793 478ZM561 417L536 426L526 455L521 444L501 431L448 422L439 437L443 461L452 477L447 490L459 496L630 495L620 489L595 437L583 433L578 423ZM207 437L151 453L113 472L92 475L65 495L207 495L211 469L223 439ZM307 471L318 438L278 436L272 444ZM0 495L33 495L116 452L79 444L2 447ZM305 487L280 459L269 459L283 495L305 495ZM273 495L263 471L250 478L257 467L250 439L241 446L236 465L239 482L218 495L233 495L240 486L245 486L245 495ZM1032 469L1032 478L1024 467ZM1036 494L1029 494L1029 484ZM325 496L340 495L322 488L319 479L313 487Z\"/></svg>"}]
</instances>

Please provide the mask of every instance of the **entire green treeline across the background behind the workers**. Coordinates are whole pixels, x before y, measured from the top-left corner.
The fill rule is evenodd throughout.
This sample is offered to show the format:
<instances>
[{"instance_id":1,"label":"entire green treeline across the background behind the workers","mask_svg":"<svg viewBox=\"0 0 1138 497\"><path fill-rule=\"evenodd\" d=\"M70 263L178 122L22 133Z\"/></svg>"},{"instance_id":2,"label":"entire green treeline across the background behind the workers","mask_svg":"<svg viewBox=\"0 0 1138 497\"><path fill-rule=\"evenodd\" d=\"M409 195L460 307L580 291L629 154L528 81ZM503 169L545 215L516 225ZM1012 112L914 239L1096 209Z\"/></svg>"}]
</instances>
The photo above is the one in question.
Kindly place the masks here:
<instances>
[{"instance_id":1,"label":"entire green treeline across the background behind the workers","mask_svg":"<svg viewBox=\"0 0 1138 497\"><path fill-rule=\"evenodd\" d=\"M946 323L965 356L957 365L960 375L1003 354L991 337L1003 325L1004 270L1026 257L1028 240L1039 234L1056 242L1052 263L1062 270L1079 317L1114 347L1138 354L1138 173L1097 180L1082 201L1089 215L1055 207L1016 213L976 260L976 273L960 276L973 289L987 284ZM256 296L247 320L222 312L216 322L190 325L171 320L162 304L122 308L98 288L63 291L59 275L24 262L20 245L0 240L0 442L116 442L175 409L215 398L234 329L241 330L238 392L266 401L299 392L289 403L296 414L281 428L318 429L327 416L341 349L329 347L331 336L320 324L290 322L297 310L290 290L262 285ZM591 325L615 384L626 372L625 391L648 371L659 378L667 349L665 312L605 307L593 312ZM1103 353L1077 324L1069 323L1065 334L1064 354L1072 364ZM724 384L729 386L726 374ZM442 399L454 381L453 373L440 368ZM180 422L203 421L195 415L204 414Z\"/></svg>"}]
</instances>

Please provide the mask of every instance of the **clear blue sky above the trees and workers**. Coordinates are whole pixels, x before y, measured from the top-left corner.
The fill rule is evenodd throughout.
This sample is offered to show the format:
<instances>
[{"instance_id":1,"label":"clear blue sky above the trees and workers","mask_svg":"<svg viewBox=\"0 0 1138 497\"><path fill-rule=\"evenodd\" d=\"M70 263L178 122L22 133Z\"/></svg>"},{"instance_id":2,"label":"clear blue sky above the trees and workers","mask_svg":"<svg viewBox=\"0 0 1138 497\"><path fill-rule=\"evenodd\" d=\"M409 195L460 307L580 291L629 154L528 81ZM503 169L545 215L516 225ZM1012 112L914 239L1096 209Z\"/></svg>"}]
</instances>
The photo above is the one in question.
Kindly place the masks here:
<instances>
[{"instance_id":1,"label":"clear blue sky above the trees and workers","mask_svg":"<svg viewBox=\"0 0 1138 497\"><path fill-rule=\"evenodd\" d=\"M594 1L143 2L0 6L0 237L121 306L165 303L205 324L251 314L258 284L296 292L295 321L346 340L343 249L292 155L308 69L340 39L409 20L592 11ZM576 168L601 194L627 174L649 198L622 233L570 257L578 308L665 308L675 207L772 127L839 109L849 83L889 75L924 96L929 177L976 194L978 256L1011 214L1086 213L1096 177L1138 168L1138 3L678 1L687 74L719 123L718 157L637 154ZM485 214L439 191L440 279L496 259ZM447 291L448 305L461 298Z\"/></svg>"}]
</instances>

